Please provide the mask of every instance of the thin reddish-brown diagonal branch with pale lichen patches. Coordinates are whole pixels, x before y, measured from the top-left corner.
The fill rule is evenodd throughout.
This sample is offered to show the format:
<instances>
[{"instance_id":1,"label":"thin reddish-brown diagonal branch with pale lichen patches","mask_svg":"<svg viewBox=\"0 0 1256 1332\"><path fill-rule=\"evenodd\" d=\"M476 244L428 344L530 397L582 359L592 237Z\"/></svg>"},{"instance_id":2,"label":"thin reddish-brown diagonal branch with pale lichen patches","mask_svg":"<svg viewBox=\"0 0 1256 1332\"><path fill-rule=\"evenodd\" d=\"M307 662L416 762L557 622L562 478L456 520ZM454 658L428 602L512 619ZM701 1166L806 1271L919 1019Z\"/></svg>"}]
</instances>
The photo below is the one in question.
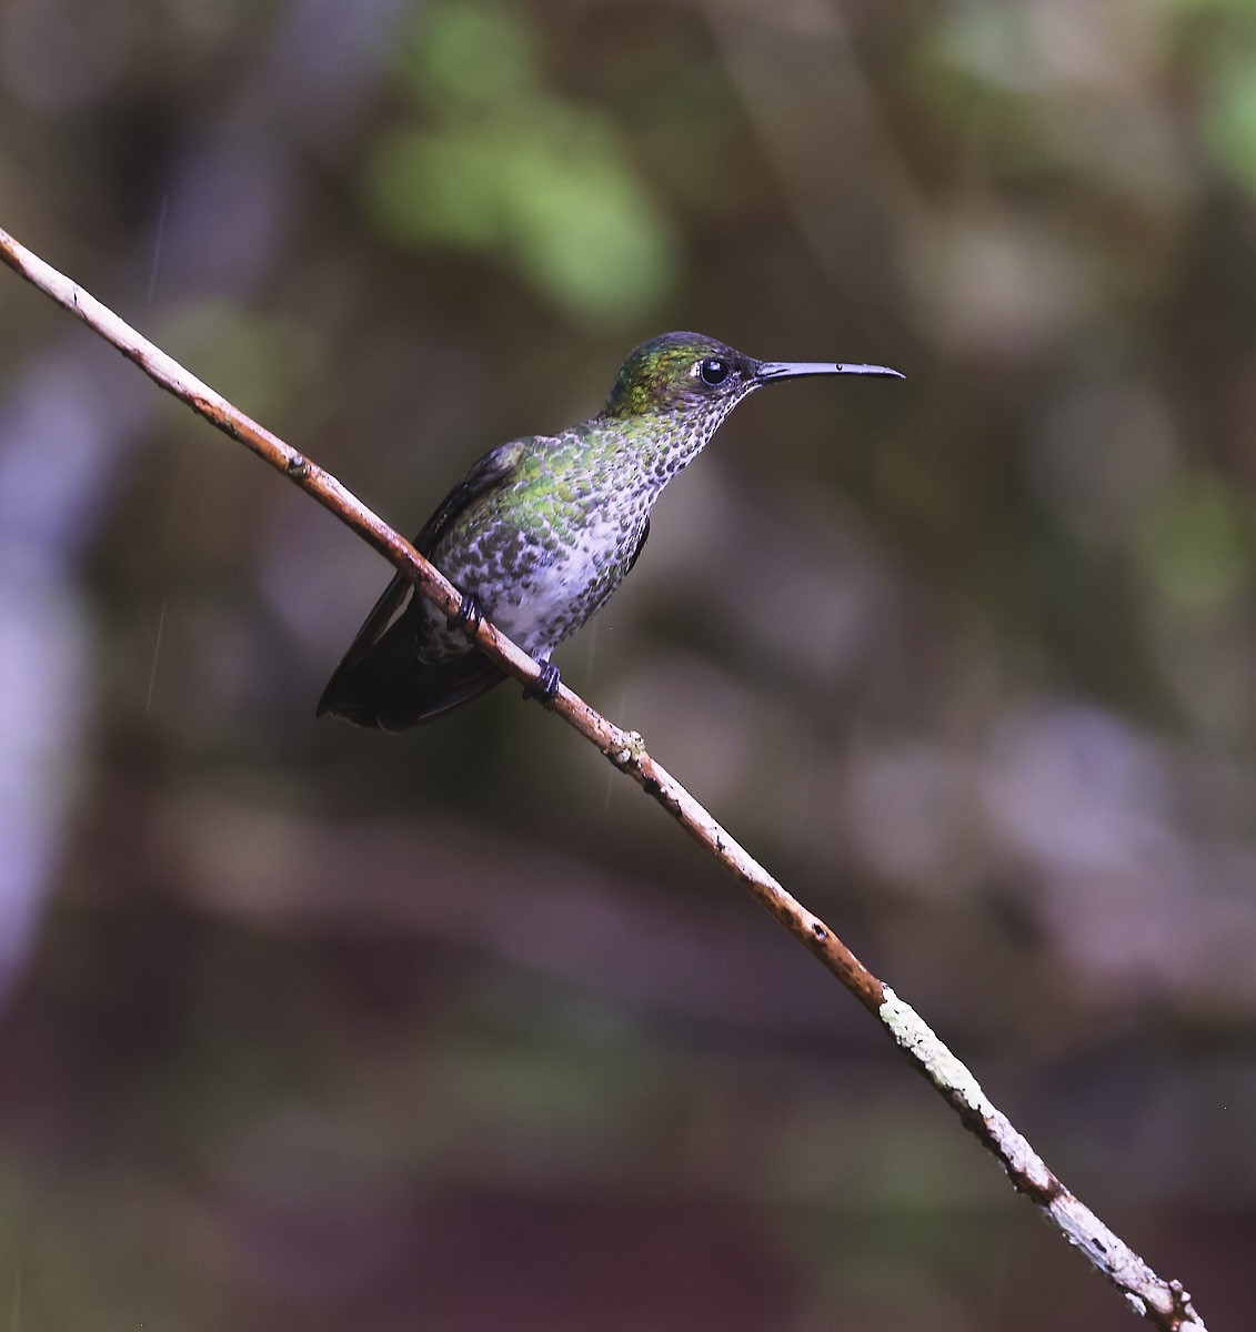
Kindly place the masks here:
<instances>
[{"instance_id":1,"label":"thin reddish-brown diagonal branch with pale lichen patches","mask_svg":"<svg viewBox=\"0 0 1256 1332\"><path fill-rule=\"evenodd\" d=\"M0 230L0 258L111 342L160 388L187 402L212 425L252 449L289 481L401 570L447 614L461 595L415 547L356 500L331 473L291 449L277 436L237 412L200 380L159 350L83 288L51 268ZM471 635L476 647L525 683L539 667L516 643L487 621ZM989 1102L972 1074L937 1039L921 1018L883 984L836 934L791 896L645 750L635 731L625 731L589 707L565 685L549 705L621 771L652 795L677 823L747 887L777 920L883 1023L917 1072L941 1092L964 1127L991 1151L1012 1184L1029 1197L1061 1235L1080 1249L1129 1304L1165 1332L1204 1332L1204 1324L1179 1281L1159 1277L1047 1168L1025 1138Z\"/></svg>"}]
</instances>

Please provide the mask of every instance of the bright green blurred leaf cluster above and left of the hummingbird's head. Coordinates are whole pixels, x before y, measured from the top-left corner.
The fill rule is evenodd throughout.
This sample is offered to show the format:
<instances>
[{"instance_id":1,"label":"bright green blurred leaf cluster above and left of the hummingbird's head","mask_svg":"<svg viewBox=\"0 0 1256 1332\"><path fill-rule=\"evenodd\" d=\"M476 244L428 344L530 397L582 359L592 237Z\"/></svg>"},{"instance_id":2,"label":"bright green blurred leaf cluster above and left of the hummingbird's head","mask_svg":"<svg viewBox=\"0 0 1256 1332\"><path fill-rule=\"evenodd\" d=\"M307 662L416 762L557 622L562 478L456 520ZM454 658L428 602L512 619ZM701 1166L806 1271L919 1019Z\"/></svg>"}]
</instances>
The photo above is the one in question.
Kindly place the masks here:
<instances>
[{"instance_id":1,"label":"bright green blurred leaf cluster above and left of the hummingbird's head","mask_svg":"<svg viewBox=\"0 0 1256 1332\"><path fill-rule=\"evenodd\" d=\"M417 119L372 145L367 201L399 241L499 254L581 322L623 326L675 285L673 228L615 121L547 91L537 57L517 9L427 8L401 57Z\"/></svg>"}]
</instances>

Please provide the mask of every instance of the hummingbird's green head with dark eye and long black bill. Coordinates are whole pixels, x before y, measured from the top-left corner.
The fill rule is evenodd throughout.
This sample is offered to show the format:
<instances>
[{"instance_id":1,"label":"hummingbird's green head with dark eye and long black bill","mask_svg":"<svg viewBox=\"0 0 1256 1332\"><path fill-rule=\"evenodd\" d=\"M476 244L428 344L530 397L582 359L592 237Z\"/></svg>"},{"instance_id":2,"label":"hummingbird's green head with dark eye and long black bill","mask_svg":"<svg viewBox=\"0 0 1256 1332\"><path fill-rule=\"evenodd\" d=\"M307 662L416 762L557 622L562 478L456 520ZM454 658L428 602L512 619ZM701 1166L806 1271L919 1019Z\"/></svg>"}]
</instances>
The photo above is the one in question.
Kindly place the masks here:
<instances>
[{"instance_id":1,"label":"hummingbird's green head with dark eye and long black bill","mask_svg":"<svg viewBox=\"0 0 1256 1332\"><path fill-rule=\"evenodd\" d=\"M625 425L668 422L663 470L671 474L707 445L744 397L765 384L812 374L903 378L884 365L756 361L701 333L663 333L628 353L601 414Z\"/></svg>"}]
</instances>

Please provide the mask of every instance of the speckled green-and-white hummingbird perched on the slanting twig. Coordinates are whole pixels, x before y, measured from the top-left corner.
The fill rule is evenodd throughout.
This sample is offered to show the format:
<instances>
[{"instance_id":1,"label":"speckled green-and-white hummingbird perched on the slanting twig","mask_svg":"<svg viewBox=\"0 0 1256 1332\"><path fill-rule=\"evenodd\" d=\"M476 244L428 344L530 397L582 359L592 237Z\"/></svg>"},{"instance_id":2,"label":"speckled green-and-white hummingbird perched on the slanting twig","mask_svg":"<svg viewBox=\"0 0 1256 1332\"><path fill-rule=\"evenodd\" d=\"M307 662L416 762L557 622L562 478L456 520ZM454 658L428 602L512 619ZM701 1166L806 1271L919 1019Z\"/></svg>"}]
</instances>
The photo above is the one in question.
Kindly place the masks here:
<instances>
[{"instance_id":1,"label":"speckled green-and-white hummingbird perched on the slanting twig","mask_svg":"<svg viewBox=\"0 0 1256 1332\"><path fill-rule=\"evenodd\" d=\"M884 365L756 361L700 333L643 342L597 416L560 434L511 440L472 465L415 538L461 593L457 614L447 617L397 574L317 715L397 731L471 702L507 678L468 641L484 617L540 665L524 697L549 702L560 682L549 654L632 571L668 481L743 398L816 374L903 378Z\"/></svg>"}]
</instances>

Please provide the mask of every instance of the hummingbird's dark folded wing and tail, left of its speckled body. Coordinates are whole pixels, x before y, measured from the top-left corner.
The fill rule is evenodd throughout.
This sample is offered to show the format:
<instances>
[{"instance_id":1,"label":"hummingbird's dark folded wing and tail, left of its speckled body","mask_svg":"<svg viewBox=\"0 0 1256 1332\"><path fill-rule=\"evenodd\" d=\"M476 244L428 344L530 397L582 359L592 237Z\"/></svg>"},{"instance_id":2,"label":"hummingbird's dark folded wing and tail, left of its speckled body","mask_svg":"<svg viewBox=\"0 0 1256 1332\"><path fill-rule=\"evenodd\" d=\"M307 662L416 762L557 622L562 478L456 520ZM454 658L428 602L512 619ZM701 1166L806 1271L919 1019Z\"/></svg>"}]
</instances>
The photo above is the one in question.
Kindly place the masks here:
<instances>
[{"instance_id":1,"label":"hummingbird's dark folded wing and tail, left of its speckled body","mask_svg":"<svg viewBox=\"0 0 1256 1332\"><path fill-rule=\"evenodd\" d=\"M528 442L512 440L472 465L415 537L419 554L431 558L459 514L509 480ZM404 574L388 583L327 682L316 717L332 713L359 726L396 731L469 702L505 679L500 666L475 650L443 662L420 661L416 626L408 614L413 593L415 585Z\"/></svg>"}]
</instances>

